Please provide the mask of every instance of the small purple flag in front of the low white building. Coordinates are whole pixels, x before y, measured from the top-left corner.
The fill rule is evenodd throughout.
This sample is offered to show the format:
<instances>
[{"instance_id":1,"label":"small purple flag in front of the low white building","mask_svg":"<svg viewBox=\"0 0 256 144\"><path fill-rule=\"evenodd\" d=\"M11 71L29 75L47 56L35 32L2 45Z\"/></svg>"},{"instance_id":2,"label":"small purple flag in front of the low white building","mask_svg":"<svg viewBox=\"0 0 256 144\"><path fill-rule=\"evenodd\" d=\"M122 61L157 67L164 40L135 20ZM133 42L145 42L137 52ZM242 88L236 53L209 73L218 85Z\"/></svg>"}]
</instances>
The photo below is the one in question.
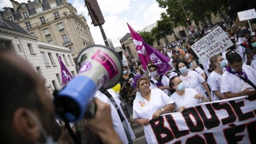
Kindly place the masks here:
<instances>
[{"instance_id":1,"label":"small purple flag in front of the low white building","mask_svg":"<svg viewBox=\"0 0 256 144\"><path fill-rule=\"evenodd\" d=\"M58 62L60 63L60 66L61 66L62 85L66 85L69 81L71 81L73 76L69 72L67 67L64 65L64 63L62 62L62 57L60 55L58 56Z\"/></svg>"}]
</instances>

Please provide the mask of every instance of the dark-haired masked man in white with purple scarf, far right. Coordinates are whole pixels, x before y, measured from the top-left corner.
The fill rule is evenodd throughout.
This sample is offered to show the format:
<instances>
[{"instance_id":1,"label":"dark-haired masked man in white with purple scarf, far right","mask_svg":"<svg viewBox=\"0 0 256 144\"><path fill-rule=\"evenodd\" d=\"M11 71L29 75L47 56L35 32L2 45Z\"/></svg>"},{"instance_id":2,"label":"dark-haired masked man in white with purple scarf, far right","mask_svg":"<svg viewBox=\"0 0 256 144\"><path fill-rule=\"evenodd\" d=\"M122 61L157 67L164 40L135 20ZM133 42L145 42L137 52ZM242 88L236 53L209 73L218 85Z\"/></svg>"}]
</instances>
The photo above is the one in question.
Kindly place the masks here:
<instances>
[{"instance_id":1,"label":"dark-haired masked man in white with purple scarf, far right","mask_svg":"<svg viewBox=\"0 0 256 144\"><path fill-rule=\"evenodd\" d=\"M221 76L221 93L225 98L254 95L256 93L256 70L243 65L238 53L227 56L228 66Z\"/></svg>"}]
</instances>

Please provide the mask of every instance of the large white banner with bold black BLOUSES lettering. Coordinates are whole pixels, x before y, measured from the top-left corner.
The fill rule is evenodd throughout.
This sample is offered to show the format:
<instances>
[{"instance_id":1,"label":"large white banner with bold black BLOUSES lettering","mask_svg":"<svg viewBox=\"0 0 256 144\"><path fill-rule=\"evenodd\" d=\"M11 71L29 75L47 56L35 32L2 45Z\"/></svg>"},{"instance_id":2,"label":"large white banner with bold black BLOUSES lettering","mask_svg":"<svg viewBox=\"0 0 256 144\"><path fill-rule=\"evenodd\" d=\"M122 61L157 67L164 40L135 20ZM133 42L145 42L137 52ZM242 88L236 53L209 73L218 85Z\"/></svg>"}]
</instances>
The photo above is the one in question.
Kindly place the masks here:
<instances>
[{"instance_id":1,"label":"large white banner with bold black BLOUSES lettering","mask_svg":"<svg viewBox=\"0 0 256 144\"><path fill-rule=\"evenodd\" d=\"M207 102L150 120L150 143L255 143L256 96Z\"/></svg>"}]
</instances>

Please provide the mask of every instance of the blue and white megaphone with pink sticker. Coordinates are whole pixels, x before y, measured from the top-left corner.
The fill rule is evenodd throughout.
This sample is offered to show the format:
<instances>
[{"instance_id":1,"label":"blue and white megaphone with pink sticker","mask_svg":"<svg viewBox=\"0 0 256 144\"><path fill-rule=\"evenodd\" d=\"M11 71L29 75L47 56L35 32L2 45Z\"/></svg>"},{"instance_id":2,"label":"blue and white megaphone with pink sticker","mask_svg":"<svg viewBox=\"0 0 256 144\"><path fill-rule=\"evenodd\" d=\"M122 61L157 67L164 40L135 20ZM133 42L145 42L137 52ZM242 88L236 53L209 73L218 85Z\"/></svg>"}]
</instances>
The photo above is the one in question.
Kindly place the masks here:
<instances>
[{"instance_id":1,"label":"blue and white megaphone with pink sticker","mask_svg":"<svg viewBox=\"0 0 256 144\"><path fill-rule=\"evenodd\" d=\"M92 97L100 88L109 89L119 83L122 67L120 57L110 48L101 45L85 48L76 60L78 75L54 98L57 115L69 122L91 116L95 113L95 105L90 105Z\"/></svg>"}]
</instances>

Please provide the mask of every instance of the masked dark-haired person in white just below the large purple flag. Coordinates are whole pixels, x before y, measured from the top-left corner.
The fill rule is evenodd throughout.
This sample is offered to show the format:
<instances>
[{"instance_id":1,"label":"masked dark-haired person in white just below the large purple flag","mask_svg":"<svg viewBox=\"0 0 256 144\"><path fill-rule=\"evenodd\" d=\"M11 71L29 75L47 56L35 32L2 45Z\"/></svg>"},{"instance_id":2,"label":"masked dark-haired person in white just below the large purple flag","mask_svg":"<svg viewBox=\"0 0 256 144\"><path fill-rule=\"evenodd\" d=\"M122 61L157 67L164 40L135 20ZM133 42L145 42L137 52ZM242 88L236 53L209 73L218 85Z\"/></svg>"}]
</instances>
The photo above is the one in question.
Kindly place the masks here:
<instances>
[{"instance_id":1,"label":"masked dark-haired person in white just below the large purple flag","mask_svg":"<svg viewBox=\"0 0 256 144\"><path fill-rule=\"evenodd\" d=\"M165 75L159 75L157 72L157 67L155 65L151 65L149 67L149 71L151 74L151 83L153 83L157 88L163 90L167 95L169 95L169 78Z\"/></svg>"}]
</instances>

